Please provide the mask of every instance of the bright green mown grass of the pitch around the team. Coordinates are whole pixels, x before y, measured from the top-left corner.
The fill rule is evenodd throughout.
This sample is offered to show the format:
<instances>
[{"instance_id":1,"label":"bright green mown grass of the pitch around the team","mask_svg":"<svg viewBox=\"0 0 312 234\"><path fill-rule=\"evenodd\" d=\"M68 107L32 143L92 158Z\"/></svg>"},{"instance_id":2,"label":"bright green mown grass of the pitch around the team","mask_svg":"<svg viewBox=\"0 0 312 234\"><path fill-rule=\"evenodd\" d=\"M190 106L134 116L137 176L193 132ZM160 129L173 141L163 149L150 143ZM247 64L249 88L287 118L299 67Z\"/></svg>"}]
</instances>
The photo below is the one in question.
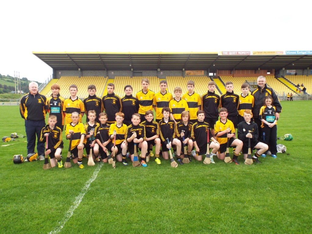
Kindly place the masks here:
<instances>
[{"instance_id":1,"label":"bright green mown grass of the pitch around the team","mask_svg":"<svg viewBox=\"0 0 312 234\"><path fill-rule=\"evenodd\" d=\"M282 102L278 136L292 141L261 164L178 168L170 160L147 168L105 163L60 233L309 233L312 229L311 101ZM0 106L3 136L25 134L18 106ZM64 139L63 163L68 140ZM59 227L99 164L43 170L44 161L13 164L27 155L26 138L1 147L1 233L49 233ZM232 149L230 149L232 157ZM65 156L65 157L64 157ZM162 158L161 158L162 159ZM129 160L129 159L128 159Z\"/></svg>"}]
</instances>

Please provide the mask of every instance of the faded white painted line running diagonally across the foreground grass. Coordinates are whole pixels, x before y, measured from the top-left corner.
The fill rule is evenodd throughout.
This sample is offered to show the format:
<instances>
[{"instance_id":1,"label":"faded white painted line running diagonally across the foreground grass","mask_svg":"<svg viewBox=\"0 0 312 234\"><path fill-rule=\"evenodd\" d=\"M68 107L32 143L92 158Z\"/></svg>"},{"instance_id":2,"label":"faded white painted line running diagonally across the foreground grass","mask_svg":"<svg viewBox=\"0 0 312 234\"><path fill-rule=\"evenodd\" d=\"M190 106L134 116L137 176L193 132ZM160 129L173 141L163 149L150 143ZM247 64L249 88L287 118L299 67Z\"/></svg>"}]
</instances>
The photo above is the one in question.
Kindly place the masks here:
<instances>
[{"instance_id":1,"label":"faded white painted line running diagonally across the foreground grass","mask_svg":"<svg viewBox=\"0 0 312 234\"><path fill-rule=\"evenodd\" d=\"M56 227L53 231L49 232L50 234L61 232L61 230L65 226L66 222L71 218L74 211L79 206L83 197L87 193L88 188L90 187L90 184L96 179L96 177L97 177L98 173L100 172L100 169L102 166L103 166L103 163L100 163L100 165L95 169L93 176L85 183L85 186L82 188L81 193L79 193L79 195L75 198L74 204L69 208L67 213L64 215L63 220L61 222L59 222L59 226Z\"/></svg>"}]
</instances>

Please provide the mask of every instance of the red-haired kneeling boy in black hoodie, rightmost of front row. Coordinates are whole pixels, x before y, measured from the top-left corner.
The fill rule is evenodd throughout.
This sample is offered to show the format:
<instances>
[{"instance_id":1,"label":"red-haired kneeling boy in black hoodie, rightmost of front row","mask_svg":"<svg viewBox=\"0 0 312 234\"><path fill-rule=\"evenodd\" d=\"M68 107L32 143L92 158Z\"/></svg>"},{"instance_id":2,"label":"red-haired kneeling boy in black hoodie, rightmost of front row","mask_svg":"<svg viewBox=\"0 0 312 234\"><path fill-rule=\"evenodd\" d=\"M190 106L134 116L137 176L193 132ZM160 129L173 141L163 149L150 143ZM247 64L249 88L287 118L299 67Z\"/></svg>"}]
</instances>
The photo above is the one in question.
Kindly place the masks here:
<instances>
[{"instance_id":1,"label":"red-haired kneeling boy in black hoodie, rightmost of front row","mask_svg":"<svg viewBox=\"0 0 312 234\"><path fill-rule=\"evenodd\" d=\"M248 154L248 139L250 139L250 148L258 149L252 157L256 163L260 163L258 158L261 154L268 150L268 145L258 141L258 126L252 121L251 110L244 111L244 121L238 124L237 137L243 142L242 152L246 160Z\"/></svg>"}]
</instances>

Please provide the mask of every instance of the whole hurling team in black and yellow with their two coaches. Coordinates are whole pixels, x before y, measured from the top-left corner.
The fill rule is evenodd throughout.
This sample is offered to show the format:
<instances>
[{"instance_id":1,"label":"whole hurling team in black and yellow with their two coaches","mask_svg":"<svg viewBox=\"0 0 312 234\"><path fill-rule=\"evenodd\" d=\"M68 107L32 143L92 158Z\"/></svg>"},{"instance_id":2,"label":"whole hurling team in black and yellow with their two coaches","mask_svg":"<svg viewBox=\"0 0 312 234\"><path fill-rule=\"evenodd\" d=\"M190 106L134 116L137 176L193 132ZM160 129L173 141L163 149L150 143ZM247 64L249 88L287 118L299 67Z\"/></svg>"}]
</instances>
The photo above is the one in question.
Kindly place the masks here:
<instances>
[{"instance_id":1,"label":"whole hurling team in black and yellow with their two coaches","mask_svg":"<svg viewBox=\"0 0 312 234\"><path fill-rule=\"evenodd\" d=\"M264 76L257 78L255 90L242 84L240 95L233 92L231 81L221 96L215 93L214 81L208 82L202 96L194 91L192 80L184 94L179 86L169 93L166 80L160 80L159 92L149 90L148 79L142 79L141 85L136 94L126 85L122 98L115 95L113 83L107 84L102 98L96 95L95 85L89 85L89 95L82 101L76 85L69 86L70 97L64 99L60 86L53 84L52 94L46 98L38 92L38 84L31 82L30 92L20 102L27 135L25 160L45 160L44 168L68 168L72 160L84 168L82 161L87 157L88 165L102 161L115 168L115 162L127 166L129 160L133 166L147 167L151 158L156 164L170 159L172 167L192 160L215 163L214 156L237 165L239 158L246 165L260 163L258 158L267 154L276 158L276 124L282 107ZM69 140L66 161L61 155L63 131ZM233 149L232 158L229 148Z\"/></svg>"}]
</instances>

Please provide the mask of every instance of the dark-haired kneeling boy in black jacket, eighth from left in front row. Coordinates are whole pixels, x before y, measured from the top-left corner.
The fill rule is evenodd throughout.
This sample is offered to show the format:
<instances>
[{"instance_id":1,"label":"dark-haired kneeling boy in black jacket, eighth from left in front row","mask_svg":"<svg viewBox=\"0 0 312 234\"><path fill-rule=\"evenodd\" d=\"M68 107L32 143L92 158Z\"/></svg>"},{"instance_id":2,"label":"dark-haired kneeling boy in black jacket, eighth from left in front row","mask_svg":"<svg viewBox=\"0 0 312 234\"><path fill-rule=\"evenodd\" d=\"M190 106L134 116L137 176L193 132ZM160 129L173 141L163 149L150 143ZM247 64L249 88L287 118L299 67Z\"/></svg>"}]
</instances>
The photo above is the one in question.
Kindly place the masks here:
<instances>
[{"instance_id":1,"label":"dark-haired kneeling boy in black jacket, eighth from left in front row","mask_svg":"<svg viewBox=\"0 0 312 234\"><path fill-rule=\"evenodd\" d=\"M171 149L171 145L177 146L177 158L178 163L183 165L181 159L181 142L176 138L176 124L174 120L170 119L170 108L164 107L162 110L163 119L159 121L159 133L160 139L163 149L163 159L168 159L168 151ZM169 139L169 144L167 142L167 138Z\"/></svg>"}]
</instances>

